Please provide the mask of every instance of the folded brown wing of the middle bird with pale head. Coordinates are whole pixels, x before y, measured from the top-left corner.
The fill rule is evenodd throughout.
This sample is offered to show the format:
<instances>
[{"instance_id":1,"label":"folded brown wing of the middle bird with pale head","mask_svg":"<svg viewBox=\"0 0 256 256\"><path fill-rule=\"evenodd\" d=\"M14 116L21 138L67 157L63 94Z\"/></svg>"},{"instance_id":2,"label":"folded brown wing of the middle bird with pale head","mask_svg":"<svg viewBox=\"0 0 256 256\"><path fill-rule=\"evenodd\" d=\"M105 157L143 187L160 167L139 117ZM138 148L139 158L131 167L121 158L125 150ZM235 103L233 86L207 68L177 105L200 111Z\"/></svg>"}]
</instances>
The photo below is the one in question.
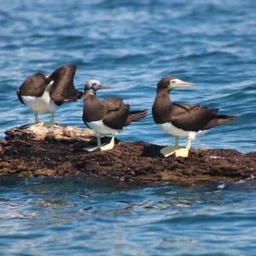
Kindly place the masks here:
<instances>
[{"instance_id":1,"label":"folded brown wing of the middle bird with pale head","mask_svg":"<svg viewBox=\"0 0 256 256\"><path fill-rule=\"evenodd\" d=\"M123 103L118 97L103 100L102 105L107 109L102 119L103 124L112 129L123 129L130 113L130 105Z\"/></svg>"}]
</instances>

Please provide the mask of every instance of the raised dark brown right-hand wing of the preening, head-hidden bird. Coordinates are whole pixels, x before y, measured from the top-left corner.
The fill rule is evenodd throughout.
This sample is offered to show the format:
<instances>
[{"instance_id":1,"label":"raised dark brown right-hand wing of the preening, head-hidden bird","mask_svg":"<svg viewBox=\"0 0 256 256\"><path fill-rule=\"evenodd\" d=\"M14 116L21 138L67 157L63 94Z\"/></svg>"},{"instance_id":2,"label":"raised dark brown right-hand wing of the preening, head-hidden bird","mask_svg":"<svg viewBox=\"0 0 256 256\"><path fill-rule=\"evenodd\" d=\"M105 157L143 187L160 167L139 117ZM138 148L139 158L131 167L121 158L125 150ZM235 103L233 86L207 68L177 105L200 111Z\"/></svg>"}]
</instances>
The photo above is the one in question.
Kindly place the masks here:
<instances>
[{"instance_id":1,"label":"raised dark brown right-hand wing of the preening, head-hidden bird","mask_svg":"<svg viewBox=\"0 0 256 256\"><path fill-rule=\"evenodd\" d=\"M49 79L54 80L49 92L50 98L60 106L63 102L75 102L77 90L73 85L73 77L76 73L76 66L66 65L59 67L51 73Z\"/></svg>"}]
</instances>

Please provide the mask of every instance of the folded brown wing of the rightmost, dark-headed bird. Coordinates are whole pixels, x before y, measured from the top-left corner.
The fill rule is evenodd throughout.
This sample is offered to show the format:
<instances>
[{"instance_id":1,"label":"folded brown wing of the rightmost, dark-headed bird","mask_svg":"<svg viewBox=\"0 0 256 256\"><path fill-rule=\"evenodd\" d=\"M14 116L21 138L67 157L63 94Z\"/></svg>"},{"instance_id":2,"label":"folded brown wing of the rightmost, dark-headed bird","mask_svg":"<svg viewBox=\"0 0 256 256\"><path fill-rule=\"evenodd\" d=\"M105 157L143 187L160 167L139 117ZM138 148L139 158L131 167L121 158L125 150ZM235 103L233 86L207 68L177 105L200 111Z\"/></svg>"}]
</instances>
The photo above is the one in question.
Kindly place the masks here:
<instances>
[{"instance_id":1,"label":"folded brown wing of the rightmost, dark-headed bird","mask_svg":"<svg viewBox=\"0 0 256 256\"><path fill-rule=\"evenodd\" d=\"M217 108L209 109L201 105L172 103L172 125L184 131L199 131L216 117Z\"/></svg>"}]
</instances>

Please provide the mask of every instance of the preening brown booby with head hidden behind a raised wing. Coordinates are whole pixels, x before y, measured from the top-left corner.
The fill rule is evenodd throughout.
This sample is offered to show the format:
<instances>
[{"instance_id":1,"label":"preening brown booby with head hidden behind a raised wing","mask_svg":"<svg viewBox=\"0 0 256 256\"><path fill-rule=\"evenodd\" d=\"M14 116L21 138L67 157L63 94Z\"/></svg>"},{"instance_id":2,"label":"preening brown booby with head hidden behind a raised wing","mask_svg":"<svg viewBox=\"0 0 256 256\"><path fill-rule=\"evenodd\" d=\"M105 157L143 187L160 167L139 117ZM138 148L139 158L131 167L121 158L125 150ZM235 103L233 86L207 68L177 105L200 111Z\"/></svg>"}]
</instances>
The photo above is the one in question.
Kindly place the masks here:
<instances>
[{"instance_id":1,"label":"preening brown booby with head hidden behind a raised wing","mask_svg":"<svg viewBox=\"0 0 256 256\"><path fill-rule=\"evenodd\" d=\"M28 77L17 90L20 102L31 108L35 114L33 125L50 127L55 125L54 113L63 102L76 102L83 96L83 92L75 90L73 77L76 66L61 66L49 76L44 73L35 73ZM49 122L40 123L38 112L51 113Z\"/></svg>"}]
</instances>

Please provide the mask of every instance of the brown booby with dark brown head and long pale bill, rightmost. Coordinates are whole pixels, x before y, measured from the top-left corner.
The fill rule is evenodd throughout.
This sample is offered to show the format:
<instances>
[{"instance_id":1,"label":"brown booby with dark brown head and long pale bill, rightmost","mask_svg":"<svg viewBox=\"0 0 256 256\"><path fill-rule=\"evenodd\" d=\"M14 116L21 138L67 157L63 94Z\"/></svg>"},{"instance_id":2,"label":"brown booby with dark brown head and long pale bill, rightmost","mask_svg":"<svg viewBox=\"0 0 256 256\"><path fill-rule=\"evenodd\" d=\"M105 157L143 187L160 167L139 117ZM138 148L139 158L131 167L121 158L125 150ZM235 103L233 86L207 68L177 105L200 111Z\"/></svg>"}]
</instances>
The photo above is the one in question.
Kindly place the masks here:
<instances>
[{"instance_id":1,"label":"brown booby with dark brown head and long pale bill, rightmost","mask_svg":"<svg viewBox=\"0 0 256 256\"><path fill-rule=\"evenodd\" d=\"M166 157L174 153L176 156L187 157L191 141L195 137L206 134L214 126L230 124L236 119L235 114L218 114L218 108L210 109L201 105L171 102L169 92L172 89L191 86L195 86L195 84L173 77L160 79L157 84L157 93L152 108L154 122L162 131L175 137L174 146L168 146L160 150L160 153ZM179 147L179 137L188 137L186 148Z\"/></svg>"}]
</instances>

